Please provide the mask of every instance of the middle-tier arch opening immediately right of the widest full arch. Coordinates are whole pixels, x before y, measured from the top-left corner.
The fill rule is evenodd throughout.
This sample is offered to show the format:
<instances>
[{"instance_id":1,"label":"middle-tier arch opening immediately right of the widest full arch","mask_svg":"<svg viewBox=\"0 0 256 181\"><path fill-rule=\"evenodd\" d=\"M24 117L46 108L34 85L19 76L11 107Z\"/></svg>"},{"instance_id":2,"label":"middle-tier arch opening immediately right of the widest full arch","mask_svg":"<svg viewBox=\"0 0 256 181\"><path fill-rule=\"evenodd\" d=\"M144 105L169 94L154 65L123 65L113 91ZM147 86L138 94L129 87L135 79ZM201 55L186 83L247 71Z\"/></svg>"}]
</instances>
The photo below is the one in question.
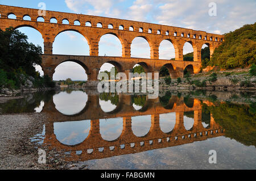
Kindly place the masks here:
<instances>
[{"instance_id":1,"label":"middle-tier arch opening immediately right of the widest full arch","mask_svg":"<svg viewBox=\"0 0 256 181\"><path fill-rule=\"evenodd\" d=\"M98 43L98 55L122 57L122 39L115 33L102 35Z\"/></svg>"}]
</instances>

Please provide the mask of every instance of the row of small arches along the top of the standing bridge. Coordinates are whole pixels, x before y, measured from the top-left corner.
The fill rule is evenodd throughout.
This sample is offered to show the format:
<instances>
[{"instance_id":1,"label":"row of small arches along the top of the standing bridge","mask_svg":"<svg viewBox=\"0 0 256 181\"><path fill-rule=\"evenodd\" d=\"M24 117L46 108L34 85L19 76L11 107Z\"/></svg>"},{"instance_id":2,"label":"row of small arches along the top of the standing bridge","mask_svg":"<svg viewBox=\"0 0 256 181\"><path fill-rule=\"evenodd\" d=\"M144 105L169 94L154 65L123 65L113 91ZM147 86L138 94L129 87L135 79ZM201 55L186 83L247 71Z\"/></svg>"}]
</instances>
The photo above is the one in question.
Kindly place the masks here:
<instances>
[{"instance_id":1,"label":"row of small arches along the top of the standing bridge","mask_svg":"<svg viewBox=\"0 0 256 181\"><path fill-rule=\"evenodd\" d=\"M10 13L9 15L8 15L8 18L10 18L10 19L16 19L16 16L15 16L15 14L13 14L13 13ZM23 20L31 20L31 17L29 16L29 15L24 15L23 16ZM44 18L43 18L43 16L38 16L38 18L36 19L36 21L37 22L44 22ZM57 19L56 18L51 18L50 19L50 23L58 23L58 21L57 21ZM69 20L68 19L63 19L62 20L62 24L69 24L70 22L69 22ZM81 26L81 23L80 23L80 21L79 20L75 20L74 22L73 22L73 24L75 25L75 26ZM92 23L90 22L90 21L87 21L87 22L85 22L85 24L84 24L85 26L88 26L88 27L92 27ZM98 22L97 23L97 27L98 28L102 28L103 27L103 24L101 23L101 22ZM108 28L109 29L114 29L114 26L113 26L113 24L108 24ZM119 30L125 30L125 27L121 24L119 27L118 27L118 29ZM135 28L133 27L133 26L130 26L129 27L129 31L135 31ZM138 30L138 32L147 32L147 33L153 33L153 30L152 30L152 28L148 28L148 30L144 30L144 28L139 28L139 30ZM158 34L158 35L161 35L161 30L157 30L156 31L156 33ZM170 31L166 31L163 35L167 35L167 36L171 36L171 33L170 33ZM193 38L193 39L204 39L204 40L210 40L210 41L223 41L223 39L221 38L221 39L219 39L218 37L207 37L207 36L205 36L205 37L203 37L202 35L196 35L196 34L194 34L194 35L191 35L190 33L188 33L187 35L185 35L185 33L177 33L177 32L174 32L174 34L173 34L173 36L181 36L181 37L188 37L188 38Z\"/></svg>"}]
</instances>

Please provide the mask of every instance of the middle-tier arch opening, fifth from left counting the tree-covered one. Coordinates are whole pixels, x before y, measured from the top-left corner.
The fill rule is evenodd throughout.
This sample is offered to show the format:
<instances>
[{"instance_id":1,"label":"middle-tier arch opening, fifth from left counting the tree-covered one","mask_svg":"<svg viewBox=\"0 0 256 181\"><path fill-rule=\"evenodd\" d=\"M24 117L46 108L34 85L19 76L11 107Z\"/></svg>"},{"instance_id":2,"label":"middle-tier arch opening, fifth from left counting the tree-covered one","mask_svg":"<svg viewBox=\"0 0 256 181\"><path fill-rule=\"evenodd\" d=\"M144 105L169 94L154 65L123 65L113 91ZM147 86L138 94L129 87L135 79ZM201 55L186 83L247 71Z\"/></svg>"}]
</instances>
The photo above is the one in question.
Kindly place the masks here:
<instances>
[{"instance_id":1,"label":"middle-tier arch opening, fifth from left counting the tree-covered one","mask_svg":"<svg viewBox=\"0 0 256 181\"><path fill-rule=\"evenodd\" d=\"M175 47L170 39L161 41L159 45L159 59L175 60Z\"/></svg>"}]
</instances>

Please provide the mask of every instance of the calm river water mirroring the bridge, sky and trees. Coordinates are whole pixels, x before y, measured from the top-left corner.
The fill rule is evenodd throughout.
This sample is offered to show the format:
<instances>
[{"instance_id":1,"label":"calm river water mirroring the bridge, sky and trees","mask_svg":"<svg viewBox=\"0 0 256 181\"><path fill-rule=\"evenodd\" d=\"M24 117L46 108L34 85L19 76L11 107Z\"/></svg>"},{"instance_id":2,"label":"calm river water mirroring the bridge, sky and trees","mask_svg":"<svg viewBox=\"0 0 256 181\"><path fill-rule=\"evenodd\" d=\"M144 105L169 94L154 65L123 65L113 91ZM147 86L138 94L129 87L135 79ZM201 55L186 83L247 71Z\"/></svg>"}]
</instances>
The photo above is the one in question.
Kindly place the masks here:
<instances>
[{"instance_id":1,"label":"calm river water mirroring the bridge, sky and trees","mask_svg":"<svg viewBox=\"0 0 256 181\"><path fill-rule=\"evenodd\" d=\"M42 134L31 141L88 169L256 169L255 102L195 95L63 89L0 108L46 113Z\"/></svg>"}]
</instances>

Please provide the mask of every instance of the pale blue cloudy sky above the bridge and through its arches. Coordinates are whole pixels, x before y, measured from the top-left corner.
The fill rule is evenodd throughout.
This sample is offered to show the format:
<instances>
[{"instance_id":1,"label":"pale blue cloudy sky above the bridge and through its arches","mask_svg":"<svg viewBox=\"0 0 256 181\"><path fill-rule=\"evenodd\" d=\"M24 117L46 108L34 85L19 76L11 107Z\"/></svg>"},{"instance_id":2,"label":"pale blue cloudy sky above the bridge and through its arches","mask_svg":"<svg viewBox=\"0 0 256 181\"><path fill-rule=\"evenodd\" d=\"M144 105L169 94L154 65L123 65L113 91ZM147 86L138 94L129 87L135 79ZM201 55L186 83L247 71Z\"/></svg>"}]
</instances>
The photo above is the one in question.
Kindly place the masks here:
<instances>
[{"instance_id":1,"label":"pale blue cloudy sky above the bridge and through its arches","mask_svg":"<svg viewBox=\"0 0 256 181\"><path fill-rule=\"evenodd\" d=\"M40 2L45 3L46 10L137 20L218 34L234 31L244 24L252 24L256 21L255 0L0 0L1 5L34 9L40 8L38 6ZM43 38L38 31L28 27L18 30L26 33L28 41L43 48ZM186 43L184 54L189 52L193 52L193 48ZM82 35L67 31L56 37L53 54L89 55L89 46ZM122 47L117 37L113 35L101 37L100 56L121 56L121 54ZM174 54L173 45L167 40L162 41L159 58L174 58ZM133 40L131 57L150 58L150 47L146 40L139 37ZM110 68L112 65L104 64L101 71ZM37 69L39 70L40 67L37 66ZM86 80L87 76L80 65L64 62L55 69L53 79L66 78Z\"/></svg>"}]
</instances>

